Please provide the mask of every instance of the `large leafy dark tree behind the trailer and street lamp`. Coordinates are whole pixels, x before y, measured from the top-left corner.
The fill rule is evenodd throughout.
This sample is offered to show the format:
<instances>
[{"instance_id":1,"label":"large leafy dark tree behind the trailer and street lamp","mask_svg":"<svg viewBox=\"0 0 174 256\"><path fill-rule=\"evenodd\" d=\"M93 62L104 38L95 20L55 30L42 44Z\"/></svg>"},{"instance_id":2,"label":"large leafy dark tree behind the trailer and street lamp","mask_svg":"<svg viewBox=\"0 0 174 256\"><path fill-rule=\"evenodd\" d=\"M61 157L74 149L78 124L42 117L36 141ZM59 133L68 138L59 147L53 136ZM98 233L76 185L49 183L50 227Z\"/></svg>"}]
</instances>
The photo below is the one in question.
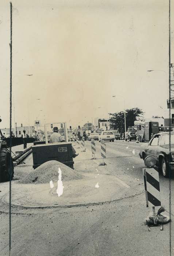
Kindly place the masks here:
<instances>
[{"instance_id":1,"label":"large leafy dark tree behind the trailer and street lamp","mask_svg":"<svg viewBox=\"0 0 174 256\"><path fill-rule=\"evenodd\" d=\"M134 126L134 121L143 119L143 111L139 108L132 108L125 110L126 116L126 131L129 126ZM118 129L119 132L124 132L124 111L117 112L117 113L109 113L111 118L109 119L110 128L111 129Z\"/></svg>"}]
</instances>

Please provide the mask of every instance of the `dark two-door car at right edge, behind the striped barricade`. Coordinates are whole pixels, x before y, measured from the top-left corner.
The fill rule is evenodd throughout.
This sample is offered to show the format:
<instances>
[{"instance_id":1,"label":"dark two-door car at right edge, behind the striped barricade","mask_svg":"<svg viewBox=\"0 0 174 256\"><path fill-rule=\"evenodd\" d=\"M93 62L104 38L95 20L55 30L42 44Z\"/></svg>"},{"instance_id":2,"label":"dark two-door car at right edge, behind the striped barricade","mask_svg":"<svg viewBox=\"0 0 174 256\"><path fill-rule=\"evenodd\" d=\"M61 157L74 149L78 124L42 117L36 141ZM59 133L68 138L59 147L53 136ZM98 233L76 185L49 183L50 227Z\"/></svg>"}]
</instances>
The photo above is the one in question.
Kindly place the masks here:
<instances>
[{"instance_id":1,"label":"dark two-door car at right edge, behind the striped barricade","mask_svg":"<svg viewBox=\"0 0 174 256\"><path fill-rule=\"evenodd\" d=\"M139 156L143 160L151 155L156 159L156 166L164 177L169 177L169 170L174 170L174 132L171 132L171 153L169 151L169 132L156 133L149 143L143 143Z\"/></svg>"}]
</instances>

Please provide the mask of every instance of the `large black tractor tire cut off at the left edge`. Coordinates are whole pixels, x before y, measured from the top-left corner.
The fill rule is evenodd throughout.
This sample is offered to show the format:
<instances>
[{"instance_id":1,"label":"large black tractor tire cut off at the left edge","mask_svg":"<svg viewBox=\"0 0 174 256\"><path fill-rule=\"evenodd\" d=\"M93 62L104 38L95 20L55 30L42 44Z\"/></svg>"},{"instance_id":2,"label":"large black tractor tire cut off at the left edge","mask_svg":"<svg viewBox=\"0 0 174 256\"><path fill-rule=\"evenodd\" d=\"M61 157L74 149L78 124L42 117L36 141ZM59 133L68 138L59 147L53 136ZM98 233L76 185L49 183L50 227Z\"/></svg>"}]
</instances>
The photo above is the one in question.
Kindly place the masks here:
<instances>
[{"instance_id":1,"label":"large black tractor tire cut off at the left edge","mask_svg":"<svg viewBox=\"0 0 174 256\"><path fill-rule=\"evenodd\" d=\"M14 177L14 166L7 148L2 148L0 151L0 182L10 180L10 163L11 163L11 180Z\"/></svg>"}]
</instances>

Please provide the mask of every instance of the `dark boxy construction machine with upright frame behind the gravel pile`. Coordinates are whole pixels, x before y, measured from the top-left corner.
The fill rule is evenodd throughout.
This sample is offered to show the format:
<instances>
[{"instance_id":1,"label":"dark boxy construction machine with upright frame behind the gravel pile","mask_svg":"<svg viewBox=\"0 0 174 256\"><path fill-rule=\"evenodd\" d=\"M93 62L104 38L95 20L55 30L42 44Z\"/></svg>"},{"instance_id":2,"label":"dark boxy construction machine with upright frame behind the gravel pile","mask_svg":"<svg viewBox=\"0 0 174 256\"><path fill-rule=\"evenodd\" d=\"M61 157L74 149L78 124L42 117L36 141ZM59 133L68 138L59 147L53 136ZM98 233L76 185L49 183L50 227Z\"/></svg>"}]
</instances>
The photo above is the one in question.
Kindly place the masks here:
<instances>
[{"instance_id":1,"label":"dark boxy construction machine with upright frame behind the gravel pile","mask_svg":"<svg viewBox=\"0 0 174 256\"><path fill-rule=\"evenodd\" d=\"M50 136L54 127L58 127L63 142L50 143ZM56 160L73 169L72 144L68 142L66 123L45 124L45 139L45 144L36 143L32 146L33 168L35 169L47 161Z\"/></svg>"}]
</instances>

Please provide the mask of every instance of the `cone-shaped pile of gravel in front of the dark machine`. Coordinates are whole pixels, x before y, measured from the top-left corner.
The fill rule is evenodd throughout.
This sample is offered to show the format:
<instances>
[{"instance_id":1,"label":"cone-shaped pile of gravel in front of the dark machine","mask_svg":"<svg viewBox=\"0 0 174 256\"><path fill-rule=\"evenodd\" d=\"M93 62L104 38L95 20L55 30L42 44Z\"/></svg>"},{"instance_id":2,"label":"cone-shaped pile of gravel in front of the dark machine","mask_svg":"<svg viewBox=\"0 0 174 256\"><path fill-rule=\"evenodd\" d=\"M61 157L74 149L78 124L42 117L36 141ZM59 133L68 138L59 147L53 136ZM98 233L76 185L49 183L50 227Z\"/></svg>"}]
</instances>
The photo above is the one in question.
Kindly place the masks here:
<instances>
[{"instance_id":1,"label":"cone-shaped pile of gravel in front of the dark machine","mask_svg":"<svg viewBox=\"0 0 174 256\"><path fill-rule=\"evenodd\" d=\"M78 180L84 178L84 176L70 167L60 163L58 161L52 160L43 163L37 167L34 171L23 177L18 181L20 184L42 184L49 183L50 180L53 182L58 180L58 167L62 171L62 181Z\"/></svg>"}]
</instances>

